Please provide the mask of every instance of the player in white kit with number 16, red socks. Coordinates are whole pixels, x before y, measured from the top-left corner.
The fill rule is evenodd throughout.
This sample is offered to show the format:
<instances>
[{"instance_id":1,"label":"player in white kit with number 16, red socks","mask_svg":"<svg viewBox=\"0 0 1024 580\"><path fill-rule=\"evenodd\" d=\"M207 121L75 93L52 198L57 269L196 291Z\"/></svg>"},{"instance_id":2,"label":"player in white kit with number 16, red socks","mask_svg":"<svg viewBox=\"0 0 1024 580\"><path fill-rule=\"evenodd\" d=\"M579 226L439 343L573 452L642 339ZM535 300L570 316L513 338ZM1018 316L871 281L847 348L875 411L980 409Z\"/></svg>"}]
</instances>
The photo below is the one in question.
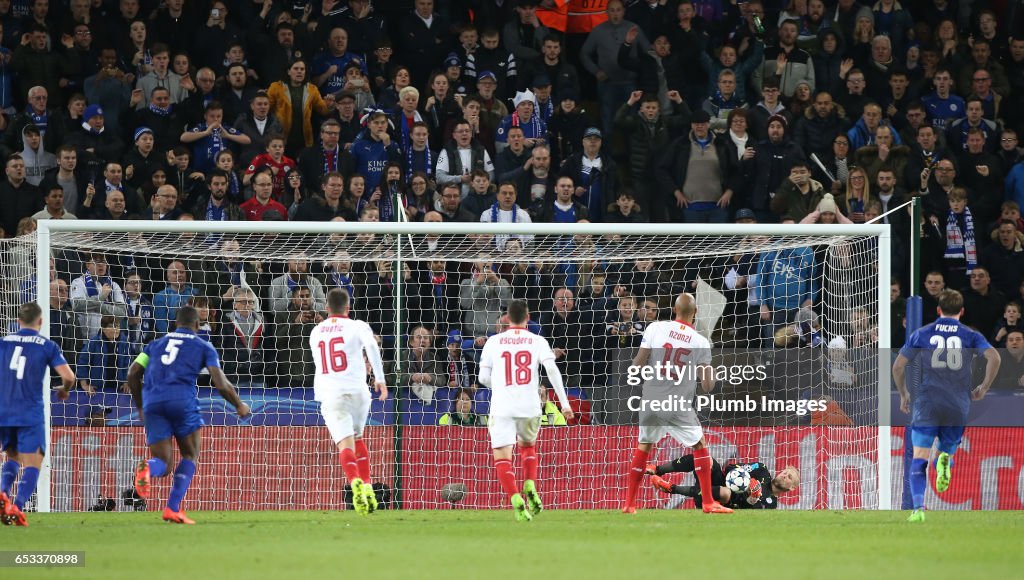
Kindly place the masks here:
<instances>
[{"instance_id":1,"label":"player in white kit with number 16, red socks","mask_svg":"<svg viewBox=\"0 0 1024 580\"><path fill-rule=\"evenodd\" d=\"M324 422L341 453L341 467L352 488L352 505L366 515L377 509L370 485L370 451L362 441L362 427L370 414L366 351L374 371L374 389L387 399L384 363L370 325L348 318L348 292L341 288L327 295L328 318L309 334L316 375L313 398L321 404Z\"/></svg>"}]
</instances>

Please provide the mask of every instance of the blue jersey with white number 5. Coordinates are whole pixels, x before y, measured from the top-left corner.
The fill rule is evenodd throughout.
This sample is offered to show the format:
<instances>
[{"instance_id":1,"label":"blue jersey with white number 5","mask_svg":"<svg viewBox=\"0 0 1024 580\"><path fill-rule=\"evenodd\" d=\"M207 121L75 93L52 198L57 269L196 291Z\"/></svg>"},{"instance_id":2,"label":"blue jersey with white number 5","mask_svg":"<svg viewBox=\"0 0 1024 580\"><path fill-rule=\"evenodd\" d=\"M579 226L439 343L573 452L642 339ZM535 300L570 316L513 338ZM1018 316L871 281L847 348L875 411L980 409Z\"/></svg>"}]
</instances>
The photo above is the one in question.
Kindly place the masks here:
<instances>
[{"instance_id":1,"label":"blue jersey with white number 5","mask_svg":"<svg viewBox=\"0 0 1024 580\"><path fill-rule=\"evenodd\" d=\"M142 384L142 405L197 399L196 380L207 367L220 368L220 358L212 344L188 329L174 332L146 344L150 358Z\"/></svg>"}]
</instances>

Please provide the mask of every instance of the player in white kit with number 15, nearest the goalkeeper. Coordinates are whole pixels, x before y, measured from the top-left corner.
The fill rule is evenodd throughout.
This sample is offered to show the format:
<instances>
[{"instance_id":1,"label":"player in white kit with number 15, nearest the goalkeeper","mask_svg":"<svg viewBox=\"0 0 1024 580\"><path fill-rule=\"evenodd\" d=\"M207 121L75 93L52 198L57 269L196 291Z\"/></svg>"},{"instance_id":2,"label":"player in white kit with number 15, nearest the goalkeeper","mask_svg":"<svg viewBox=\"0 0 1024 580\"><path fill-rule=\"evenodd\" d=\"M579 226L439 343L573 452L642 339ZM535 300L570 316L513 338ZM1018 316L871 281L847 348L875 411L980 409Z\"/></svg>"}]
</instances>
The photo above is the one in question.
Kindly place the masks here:
<instances>
[{"instance_id":1,"label":"player in white kit with number 15, nearest the goalkeeper","mask_svg":"<svg viewBox=\"0 0 1024 580\"><path fill-rule=\"evenodd\" d=\"M678 384L671 395L692 401L698 381L705 392L710 392L715 387L711 367L711 341L693 328L697 303L692 294L680 294L673 309L676 314L675 321L657 321L644 331L640 350L633 359L633 365L637 368L649 367L655 363L668 365L675 377L673 383ZM644 399L644 403L648 403L646 397ZM623 512L636 512L637 490L643 480L651 449L665 436L693 448L693 470L700 483L700 494L705 498L715 497L711 485L713 460L692 406L678 412L659 412L646 416L641 410L640 439L626 477L626 505ZM732 509L717 500L705 500L702 507L705 513L732 513Z\"/></svg>"}]
</instances>

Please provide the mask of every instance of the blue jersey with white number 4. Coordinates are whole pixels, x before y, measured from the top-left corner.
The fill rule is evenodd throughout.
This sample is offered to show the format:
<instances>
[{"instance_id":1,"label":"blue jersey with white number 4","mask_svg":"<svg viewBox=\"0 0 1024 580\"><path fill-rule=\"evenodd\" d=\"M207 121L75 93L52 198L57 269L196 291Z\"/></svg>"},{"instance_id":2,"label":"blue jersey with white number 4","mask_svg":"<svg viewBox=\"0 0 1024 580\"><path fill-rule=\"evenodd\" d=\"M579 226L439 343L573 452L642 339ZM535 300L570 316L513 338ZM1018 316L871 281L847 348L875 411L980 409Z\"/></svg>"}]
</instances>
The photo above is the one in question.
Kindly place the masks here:
<instances>
[{"instance_id":1,"label":"blue jersey with white number 4","mask_svg":"<svg viewBox=\"0 0 1024 580\"><path fill-rule=\"evenodd\" d=\"M23 328L0 340L0 426L37 425L43 416L43 379L67 365L60 347Z\"/></svg>"}]
</instances>

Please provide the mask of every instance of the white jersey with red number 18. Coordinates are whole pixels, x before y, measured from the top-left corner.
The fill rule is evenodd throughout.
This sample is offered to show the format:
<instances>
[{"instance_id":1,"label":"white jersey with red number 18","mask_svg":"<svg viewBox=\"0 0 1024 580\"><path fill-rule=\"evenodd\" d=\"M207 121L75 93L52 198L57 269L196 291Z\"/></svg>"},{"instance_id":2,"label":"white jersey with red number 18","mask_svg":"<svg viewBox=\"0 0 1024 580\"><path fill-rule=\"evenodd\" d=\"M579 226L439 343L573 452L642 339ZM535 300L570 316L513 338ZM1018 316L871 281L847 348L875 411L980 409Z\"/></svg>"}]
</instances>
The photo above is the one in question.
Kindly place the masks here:
<instances>
[{"instance_id":1,"label":"white jersey with red number 18","mask_svg":"<svg viewBox=\"0 0 1024 580\"><path fill-rule=\"evenodd\" d=\"M480 354L480 375L490 379L490 414L536 417L541 414L540 369L555 354L543 336L512 327L487 338Z\"/></svg>"}]
</instances>

